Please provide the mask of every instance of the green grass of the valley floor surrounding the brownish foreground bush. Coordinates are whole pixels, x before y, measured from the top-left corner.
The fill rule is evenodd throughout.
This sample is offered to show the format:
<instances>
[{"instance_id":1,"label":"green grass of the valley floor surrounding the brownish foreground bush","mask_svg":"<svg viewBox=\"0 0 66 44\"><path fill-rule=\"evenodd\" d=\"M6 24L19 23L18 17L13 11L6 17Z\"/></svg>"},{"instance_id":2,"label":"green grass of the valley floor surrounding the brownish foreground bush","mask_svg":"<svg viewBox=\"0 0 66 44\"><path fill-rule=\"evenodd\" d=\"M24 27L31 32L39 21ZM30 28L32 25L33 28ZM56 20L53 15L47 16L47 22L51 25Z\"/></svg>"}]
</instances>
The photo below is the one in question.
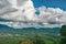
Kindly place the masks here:
<instances>
[{"instance_id":1,"label":"green grass of the valley floor surrounding the brownish foreground bush","mask_svg":"<svg viewBox=\"0 0 66 44\"><path fill-rule=\"evenodd\" d=\"M45 44L58 44L59 43L59 36L53 36L53 35L47 35L47 34L25 34L25 35L20 35L20 36L4 36L0 35L0 44L19 44L19 42L22 38L31 38L35 41L35 35L41 36Z\"/></svg>"}]
</instances>

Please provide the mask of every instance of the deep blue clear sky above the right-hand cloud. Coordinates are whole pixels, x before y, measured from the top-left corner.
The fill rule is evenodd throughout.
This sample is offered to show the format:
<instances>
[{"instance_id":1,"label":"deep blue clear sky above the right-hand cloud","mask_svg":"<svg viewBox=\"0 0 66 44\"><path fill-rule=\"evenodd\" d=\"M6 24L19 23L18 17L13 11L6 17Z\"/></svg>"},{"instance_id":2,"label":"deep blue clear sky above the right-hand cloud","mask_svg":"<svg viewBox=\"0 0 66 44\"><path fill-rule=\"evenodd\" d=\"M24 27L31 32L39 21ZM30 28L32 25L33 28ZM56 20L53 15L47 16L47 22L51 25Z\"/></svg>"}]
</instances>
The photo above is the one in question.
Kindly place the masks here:
<instances>
[{"instance_id":1,"label":"deep blue clear sky above the right-hand cloud","mask_svg":"<svg viewBox=\"0 0 66 44\"><path fill-rule=\"evenodd\" d=\"M66 11L66 0L33 0L34 7L61 8Z\"/></svg>"}]
</instances>

